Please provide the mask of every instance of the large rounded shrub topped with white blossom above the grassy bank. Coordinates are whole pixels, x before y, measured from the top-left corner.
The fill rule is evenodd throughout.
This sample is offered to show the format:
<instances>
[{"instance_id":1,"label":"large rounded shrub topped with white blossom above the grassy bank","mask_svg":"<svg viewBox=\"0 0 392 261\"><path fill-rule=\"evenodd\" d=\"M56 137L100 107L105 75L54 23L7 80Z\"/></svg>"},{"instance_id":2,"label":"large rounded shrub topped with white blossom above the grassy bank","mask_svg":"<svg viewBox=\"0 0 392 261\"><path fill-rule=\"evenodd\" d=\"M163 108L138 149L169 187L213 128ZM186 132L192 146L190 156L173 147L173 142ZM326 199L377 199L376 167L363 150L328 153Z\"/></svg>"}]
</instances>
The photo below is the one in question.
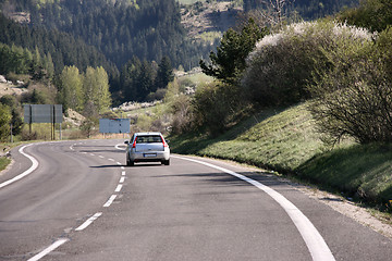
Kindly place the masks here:
<instances>
[{"instance_id":1,"label":"large rounded shrub topped with white blossom above the grassy bank","mask_svg":"<svg viewBox=\"0 0 392 261\"><path fill-rule=\"evenodd\" d=\"M366 29L333 22L303 22L257 42L242 79L260 105L292 104L310 98L308 86L338 63L350 63L372 44Z\"/></svg>"}]
</instances>

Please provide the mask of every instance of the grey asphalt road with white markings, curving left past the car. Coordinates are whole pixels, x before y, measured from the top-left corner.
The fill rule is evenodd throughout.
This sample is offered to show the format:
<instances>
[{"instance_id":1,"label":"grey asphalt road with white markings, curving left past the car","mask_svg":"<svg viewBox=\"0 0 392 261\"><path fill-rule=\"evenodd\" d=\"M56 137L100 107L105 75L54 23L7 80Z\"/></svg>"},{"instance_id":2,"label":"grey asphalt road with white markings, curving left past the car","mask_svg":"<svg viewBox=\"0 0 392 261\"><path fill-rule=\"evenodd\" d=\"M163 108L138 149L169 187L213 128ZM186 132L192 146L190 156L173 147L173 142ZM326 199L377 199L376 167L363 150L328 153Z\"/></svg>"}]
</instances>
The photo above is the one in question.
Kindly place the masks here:
<instances>
[{"instance_id":1,"label":"grey asphalt road with white markings, curving left past the car","mask_svg":"<svg viewBox=\"0 0 392 261\"><path fill-rule=\"evenodd\" d=\"M392 260L392 240L271 175L182 156L128 167L123 141L13 149L0 260Z\"/></svg>"}]
</instances>

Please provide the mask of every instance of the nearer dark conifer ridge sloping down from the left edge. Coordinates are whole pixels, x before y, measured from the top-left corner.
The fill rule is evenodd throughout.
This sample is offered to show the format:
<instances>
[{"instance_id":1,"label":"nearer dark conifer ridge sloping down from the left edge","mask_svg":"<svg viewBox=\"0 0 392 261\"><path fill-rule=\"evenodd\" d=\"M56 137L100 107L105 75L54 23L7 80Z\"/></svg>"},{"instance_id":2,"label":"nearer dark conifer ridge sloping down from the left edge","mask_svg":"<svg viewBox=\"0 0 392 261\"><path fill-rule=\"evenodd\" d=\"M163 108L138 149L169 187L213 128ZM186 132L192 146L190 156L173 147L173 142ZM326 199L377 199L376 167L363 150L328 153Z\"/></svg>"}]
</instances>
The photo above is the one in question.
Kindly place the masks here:
<instances>
[{"instance_id":1,"label":"nearer dark conifer ridge sloping down from the left edge","mask_svg":"<svg viewBox=\"0 0 392 261\"><path fill-rule=\"evenodd\" d=\"M40 27L30 28L4 17L1 13L0 32L0 42L10 47L0 48L0 58L3 61L0 66L0 74L10 72L27 74L30 69L28 66L22 67L19 63L28 63L32 60L28 52L36 52L42 58L50 57L56 74L60 73L66 65L75 65L81 70L85 70L88 65L103 66L110 72L110 75L118 73L115 65L109 62L95 47L86 45L83 40L75 40L70 34ZM12 46L26 50L24 53L23 51L17 53L11 51Z\"/></svg>"}]
</instances>

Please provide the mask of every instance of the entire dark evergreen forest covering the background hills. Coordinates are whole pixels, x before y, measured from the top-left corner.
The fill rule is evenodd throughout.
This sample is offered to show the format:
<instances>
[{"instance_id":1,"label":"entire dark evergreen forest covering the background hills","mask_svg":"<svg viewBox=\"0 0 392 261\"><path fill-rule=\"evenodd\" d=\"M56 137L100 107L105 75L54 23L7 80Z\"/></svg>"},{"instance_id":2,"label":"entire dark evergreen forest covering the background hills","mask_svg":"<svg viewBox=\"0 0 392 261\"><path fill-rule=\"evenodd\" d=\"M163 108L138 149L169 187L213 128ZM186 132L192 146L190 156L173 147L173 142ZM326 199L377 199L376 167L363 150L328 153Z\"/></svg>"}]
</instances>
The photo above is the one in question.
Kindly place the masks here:
<instances>
[{"instance_id":1,"label":"entire dark evergreen forest covering the background hills","mask_svg":"<svg viewBox=\"0 0 392 261\"><path fill-rule=\"evenodd\" d=\"M252 13L268 11L274 1L231 2ZM355 2L287 0L282 12L311 20ZM171 78L173 67L198 66L219 44L187 35L181 24L181 8L186 4L181 0L0 0L0 74L47 79L62 92L64 70L75 66L84 73L103 67L114 104L157 97L154 94L167 87L162 75Z\"/></svg>"}]
</instances>

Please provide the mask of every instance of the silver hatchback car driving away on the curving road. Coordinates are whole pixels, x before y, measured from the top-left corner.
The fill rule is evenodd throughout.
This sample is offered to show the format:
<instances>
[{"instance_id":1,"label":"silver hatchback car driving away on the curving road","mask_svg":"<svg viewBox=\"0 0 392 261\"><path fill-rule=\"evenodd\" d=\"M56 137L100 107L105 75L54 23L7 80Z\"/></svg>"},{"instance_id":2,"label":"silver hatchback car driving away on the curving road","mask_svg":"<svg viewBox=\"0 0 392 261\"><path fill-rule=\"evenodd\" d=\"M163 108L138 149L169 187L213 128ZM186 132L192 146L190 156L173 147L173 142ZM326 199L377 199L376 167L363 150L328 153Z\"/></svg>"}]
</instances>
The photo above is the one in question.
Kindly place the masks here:
<instances>
[{"instance_id":1,"label":"silver hatchback car driving away on the curving road","mask_svg":"<svg viewBox=\"0 0 392 261\"><path fill-rule=\"evenodd\" d=\"M161 133L135 133L125 141L126 165L133 166L135 162L160 161L170 164L170 149Z\"/></svg>"}]
</instances>

